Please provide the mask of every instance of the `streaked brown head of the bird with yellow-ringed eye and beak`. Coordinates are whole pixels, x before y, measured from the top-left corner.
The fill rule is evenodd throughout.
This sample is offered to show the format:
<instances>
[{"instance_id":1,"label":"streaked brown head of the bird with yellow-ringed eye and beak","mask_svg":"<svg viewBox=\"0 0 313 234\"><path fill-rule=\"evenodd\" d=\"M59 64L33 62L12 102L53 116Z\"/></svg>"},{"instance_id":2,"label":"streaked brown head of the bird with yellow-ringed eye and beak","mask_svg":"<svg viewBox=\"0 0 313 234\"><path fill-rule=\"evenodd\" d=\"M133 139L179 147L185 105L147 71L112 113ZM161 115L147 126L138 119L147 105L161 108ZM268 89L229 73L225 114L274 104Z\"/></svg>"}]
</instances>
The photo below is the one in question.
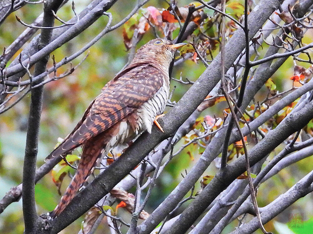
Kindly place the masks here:
<instances>
[{"instance_id":1,"label":"streaked brown head of the bird with yellow-ringed eye and beak","mask_svg":"<svg viewBox=\"0 0 313 234\"><path fill-rule=\"evenodd\" d=\"M172 41L165 38L153 39L137 50L133 61L149 61L154 66L160 66L168 70L170 63L174 59L175 51L184 45L187 44L173 44Z\"/></svg>"}]
</instances>

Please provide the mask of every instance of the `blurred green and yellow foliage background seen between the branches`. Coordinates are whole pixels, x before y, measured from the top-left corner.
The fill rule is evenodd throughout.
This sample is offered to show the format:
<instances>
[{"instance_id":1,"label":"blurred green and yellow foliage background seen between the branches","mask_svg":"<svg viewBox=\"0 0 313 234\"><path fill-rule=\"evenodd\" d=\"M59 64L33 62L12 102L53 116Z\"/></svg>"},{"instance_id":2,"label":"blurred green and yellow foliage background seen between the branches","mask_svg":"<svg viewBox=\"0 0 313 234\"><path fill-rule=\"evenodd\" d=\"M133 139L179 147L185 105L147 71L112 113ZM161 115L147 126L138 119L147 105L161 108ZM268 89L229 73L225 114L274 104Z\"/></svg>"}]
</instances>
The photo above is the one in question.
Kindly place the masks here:
<instances>
[{"instance_id":1,"label":"blurred green and yellow foliage background seen between the branches","mask_svg":"<svg viewBox=\"0 0 313 234\"><path fill-rule=\"evenodd\" d=\"M76 11L80 12L87 6L89 1L75 1ZM113 24L123 19L132 9L136 1L117 1L116 4L109 10L113 15ZM230 1L239 2L243 1ZM189 4L187 0L179 1L178 4L183 6ZM167 3L164 1L150 1L144 7L155 6L157 8L167 8ZM231 9L229 9L230 11ZM15 14L20 17L24 22L31 23L42 12L42 5L27 4L15 13L11 14L4 24L0 27L0 49L8 47L15 38L25 29L15 18ZM212 17L213 12L208 11L208 17ZM210 15L211 14L211 15ZM73 17L71 11L71 3L68 2L64 7L58 11L58 15L63 20L69 20ZM73 40L67 42L64 46L60 47L53 52L55 60L58 62L65 56L73 54L82 46L95 37L106 25L107 18L101 17L88 29L82 32ZM37 32L39 33L39 31ZM275 33L275 32L274 32ZM151 30L144 35L139 42L137 48L147 41L154 38ZM190 40L191 41L191 40ZM312 31L306 33L303 42L309 43L312 41ZM26 45L25 45L26 46ZM266 52L267 46L260 50L261 54ZM61 80L53 81L44 86L44 106L40 127L40 140L38 152L38 166L44 162L44 158L49 154L57 143L58 137L65 137L80 120L85 108L89 105L90 101L100 93L101 88L106 82L111 80L114 75L121 70L127 62L127 50L123 43L122 27L105 35L99 42L90 48L90 54L87 59L74 71L73 74ZM219 51L217 46L213 51L216 55ZM16 53L16 56L18 56ZM86 53L85 53L86 55ZM85 56L81 55L73 61L75 66ZM298 62L298 65L308 67L307 64ZM49 67L52 66L52 61L49 61ZM274 74L272 80L277 85L277 90L286 90L292 86L292 81L289 79L293 75L293 60L289 58L283 66ZM61 67L58 73L64 72L69 69L69 64ZM205 70L205 66L192 60L184 61L182 64L174 68L172 77L179 79L182 73L183 80L188 78L195 81ZM172 101L178 101L179 98L185 93L190 85L183 85L177 81L171 81L171 87L176 86L173 93ZM257 95L257 99L263 100L267 95L267 89L264 87ZM28 94L22 101L15 105L12 109L0 115L0 197L13 186L18 185L22 181L23 157L26 139L27 119L29 110L30 94ZM203 111L202 116L210 115L223 117L223 110L226 108L226 103L221 102L213 107ZM167 107L168 108L168 107ZM179 118L179 116L177 116ZM182 141L183 142L183 141ZM178 148L182 143L178 144ZM275 155L275 152L272 153ZM192 167L193 163L197 161L200 154L193 153L193 158L190 157L187 150L183 150L177 155L171 163L165 168L162 176L158 178L157 186L153 190L150 202L147 204L145 210L151 212L163 199L172 191L173 188L182 179L181 173L185 173ZM300 178L311 170L312 158L305 158L300 162L284 169L271 180L263 183L259 189L258 202L259 206L265 206L273 201L281 193L288 190ZM207 175L214 175L217 169L215 165L210 165L207 169ZM63 192L70 179L65 178L61 191ZM199 190L200 183L196 184L196 191ZM134 191L133 191L134 192ZM51 175L46 175L36 185L36 202L38 213L48 212L54 209L60 196L57 193L57 188L51 180ZM304 213L305 222L313 226L313 207L312 195L308 195L294 205L288 208L285 212L280 214L274 220L265 225L267 231L276 234L289 233L286 230L286 222L288 222L288 213L300 212ZM0 215L0 233L23 233L23 214L21 201L11 204ZM185 203L183 207L188 204ZM179 212L179 211L178 211ZM119 215L129 221L130 215L124 213L122 209ZM77 233L80 229L83 217L67 227L61 233ZM103 221L105 222L105 221ZM229 225L228 230L233 230L236 222ZM287 228L287 229L285 229ZM223 233L228 233L227 228ZM100 225L96 233L106 233L106 225ZM306 230L291 230L290 233L313 233ZM261 233L261 232L257 232Z\"/></svg>"}]
</instances>

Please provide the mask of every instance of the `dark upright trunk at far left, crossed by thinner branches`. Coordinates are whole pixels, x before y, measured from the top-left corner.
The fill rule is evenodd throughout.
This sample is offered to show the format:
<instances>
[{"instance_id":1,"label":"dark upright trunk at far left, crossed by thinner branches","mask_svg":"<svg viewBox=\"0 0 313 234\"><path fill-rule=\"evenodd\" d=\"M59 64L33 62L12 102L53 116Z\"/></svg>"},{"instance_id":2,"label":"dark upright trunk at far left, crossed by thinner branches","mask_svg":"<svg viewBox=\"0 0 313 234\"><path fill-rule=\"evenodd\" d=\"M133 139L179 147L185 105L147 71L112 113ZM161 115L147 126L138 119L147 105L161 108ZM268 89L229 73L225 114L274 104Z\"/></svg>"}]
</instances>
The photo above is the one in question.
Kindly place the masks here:
<instances>
[{"instance_id":1,"label":"dark upright trunk at far left, crossed by thinner branches","mask_svg":"<svg viewBox=\"0 0 313 234\"><path fill-rule=\"evenodd\" d=\"M63 0L54 0L44 4L43 26L53 26L55 12ZM52 29L42 29L38 49L48 45L51 40ZM43 73L46 69L48 57L38 61L35 66L34 75ZM40 82L40 80L38 80ZM37 229L37 212L35 202L35 173L36 159L38 153L38 134L43 99L43 87L32 89L31 103L28 118L28 128L25 147L25 159L23 166L23 216L26 233L35 233Z\"/></svg>"}]
</instances>

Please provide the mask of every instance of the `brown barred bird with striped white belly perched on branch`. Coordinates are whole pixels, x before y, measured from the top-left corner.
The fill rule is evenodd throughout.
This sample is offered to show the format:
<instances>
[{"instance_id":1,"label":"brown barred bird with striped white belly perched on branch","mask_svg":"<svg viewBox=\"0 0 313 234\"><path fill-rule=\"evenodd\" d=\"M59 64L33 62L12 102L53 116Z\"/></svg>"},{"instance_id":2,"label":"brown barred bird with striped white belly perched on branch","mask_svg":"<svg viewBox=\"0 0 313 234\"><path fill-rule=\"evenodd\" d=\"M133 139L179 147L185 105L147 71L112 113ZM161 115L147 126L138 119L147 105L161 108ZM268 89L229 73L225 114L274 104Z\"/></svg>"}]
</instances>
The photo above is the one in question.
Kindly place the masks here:
<instances>
[{"instance_id":1,"label":"brown barred bird with striped white belly perched on branch","mask_svg":"<svg viewBox=\"0 0 313 234\"><path fill-rule=\"evenodd\" d=\"M186 43L157 38L141 46L128 66L101 90L73 131L46 159L66 157L82 146L74 177L49 215L57 217L73 199L104 152L151 133L170 92L169 68L175 51ZM160 125L159 128L163 131Z\"/></svg>"}]
</instances>

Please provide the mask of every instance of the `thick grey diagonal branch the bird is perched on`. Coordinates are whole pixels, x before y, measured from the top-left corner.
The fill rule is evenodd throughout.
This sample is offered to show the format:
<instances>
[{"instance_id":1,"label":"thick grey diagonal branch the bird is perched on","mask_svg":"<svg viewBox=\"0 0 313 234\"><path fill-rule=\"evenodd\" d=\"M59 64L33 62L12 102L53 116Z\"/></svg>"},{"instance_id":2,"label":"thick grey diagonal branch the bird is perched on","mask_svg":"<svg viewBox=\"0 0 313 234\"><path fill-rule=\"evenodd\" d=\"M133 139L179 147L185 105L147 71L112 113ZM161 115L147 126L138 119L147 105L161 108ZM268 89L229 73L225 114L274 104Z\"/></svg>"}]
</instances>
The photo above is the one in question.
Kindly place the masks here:
<instances>
[{"instance_id":1,"label":"thick grey diagonal branch the bird is perched on","mask_svg":"<svg viewBox=\"0 0 313 234\"><path fill-rule=\"evenodd\" d=\"M250 23L253 25L254 30L251 30L249 37L252 38L257 30L266 21L267 17L275 10L278 6L279 1L271 2L261 1L260 5L264 11L261 12L251 12L249 15ZM264 13L266 12L266 13ZM233 37L230 39L226 45L226 61L225 68L228 69L233 61L238 57L240 52L244 49L244 33L241 29L237 30ZM241 42L241 43L240 43ZM243 42L243 43L242 43ZM56 233L66 227L69 223L73 222L82 213L87 211L93 204L100 200L106 193L108 193L117 183L121 180L129 171L131 171L140 161L158 144L161 140L170 137L176 129L183 123L188 116L190 116L195 110L200 102L207 96L210 90L217 84L220 79L220 68L219 62L220 57L217 56L215 61L213 61L208 69L203 73L203 75L198 79L188 91L182 97L182 99L175 105L172 110L164 117L162 124L166 127L165 133L154 131L152 134L144 133L135 143L126 151L123 157L118 158L110 167L108 167L103 173L100 174L92 183L90 183L81 193L74 197L73 201L68 207L64 209L64 212L60 214L56 219L51 222L52 229L47 230L45 233ZM197 96L197 99L190 100L190 97ZM175 116L181 116L177 119ZM142 147L145 145L147 147ZM121 172L120 168L124 171ZM189 173L188 173L189 175ZM200 174L201 175L201 174ZM192 187L192 185L191 185ZM190 187L190 188L191 188ZM187 191L189 191L189 189ZM92 194L92 196L90 196ZM180 195L180 194L179 194ZM88 197L88 198L87 198ZM179 199L180 201L181 199ZM178 202L179 202L178 201ZM176 205L175 205L176 207ZM175 208L173 207L173 208ZM169 208L169 207L168 207ZM168 209L167 208L167 209ZM161 220L163 217L161 217ZM147 219L146 221L148 221ZM161 221L160 220L160 221ZM147 223L145 221L145 223ZM155 220L153 225L157 225L158 219ZM141 224L142 225L142 224ZM140 225L140 226L141 226ZM151 231L152 227L150 222ZM139 226L139 227L140 227ZM150 230L146 229L146 232Z\"/></svg>"}]
</instances>

